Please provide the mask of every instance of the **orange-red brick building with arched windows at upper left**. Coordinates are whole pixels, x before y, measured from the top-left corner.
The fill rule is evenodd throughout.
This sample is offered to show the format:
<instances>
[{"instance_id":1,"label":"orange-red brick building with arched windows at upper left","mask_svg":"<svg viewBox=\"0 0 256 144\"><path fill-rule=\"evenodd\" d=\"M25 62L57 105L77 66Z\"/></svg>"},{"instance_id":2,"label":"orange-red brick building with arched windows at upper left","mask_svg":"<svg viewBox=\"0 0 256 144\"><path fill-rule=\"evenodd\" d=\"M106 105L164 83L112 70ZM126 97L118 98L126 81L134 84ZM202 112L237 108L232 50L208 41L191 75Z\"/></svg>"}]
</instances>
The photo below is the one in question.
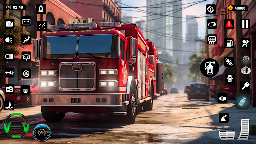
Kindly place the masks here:
<instances>
[{"instance_id":1,"label":"orange-red brick building with arched windows at upper left","mask_svg":"<svg viewBox=\"0 0 256 144\"><path fill-rule=\"evenodd\" d=\"M42 3L43 2L43 3ZM25 4L26 10L10 10L6 11L6 4ZM46 4L46 14L36 14L36 4ZM32 26L26 26L26 34L31 34L32 40L41 38L45 31L37 31L37 21L47 21L47 25L55 24L69 24L70 19L82 18L80 15L75 13L73 10L68 8L66 5L61 3L59 0L0 0L0 18L3 18L7 14L11 19L15 20L15 24L21 24L22 16L31 16ZM21 39L20 39L21 40ZM32 62L21 61L21 51L33 51L32 44L26 45L25 48L20 48L20 55L14 57L13 62L0 61L0 87L4 87L4 84L10 83L15 84L21 79L21 69L31 68L32 78L38 77L38 67ZM32 52L33 53L33 52ZM14 67L15 77L5 78L4 68ZM16 72L17 71L17 72Z\"/></svg>"}]
</instances>

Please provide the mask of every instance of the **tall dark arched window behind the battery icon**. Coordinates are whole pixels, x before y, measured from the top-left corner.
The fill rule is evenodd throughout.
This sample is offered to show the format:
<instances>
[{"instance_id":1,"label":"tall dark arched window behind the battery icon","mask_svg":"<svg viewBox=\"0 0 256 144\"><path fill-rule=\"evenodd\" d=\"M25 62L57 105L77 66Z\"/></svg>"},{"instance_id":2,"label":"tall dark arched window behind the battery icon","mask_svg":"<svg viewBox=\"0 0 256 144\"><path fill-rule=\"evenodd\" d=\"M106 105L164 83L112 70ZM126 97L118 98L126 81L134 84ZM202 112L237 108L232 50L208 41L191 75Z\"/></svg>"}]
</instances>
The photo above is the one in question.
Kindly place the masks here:
<instances>
[{"instance_id":1,"label":"tall dark arched window behind the battery icon","mask_svg":"<svg viewBox=\"0 0 256 144\"><path fill-rule=\"evenodd\" d=\"M34 30L36 17L34 14L34 8L30 4L26 5L26 16L31 17L31 26L26 26L26 31L32 36L32 38L36 38L36 32Z\"/></svg>"}]
</instances>

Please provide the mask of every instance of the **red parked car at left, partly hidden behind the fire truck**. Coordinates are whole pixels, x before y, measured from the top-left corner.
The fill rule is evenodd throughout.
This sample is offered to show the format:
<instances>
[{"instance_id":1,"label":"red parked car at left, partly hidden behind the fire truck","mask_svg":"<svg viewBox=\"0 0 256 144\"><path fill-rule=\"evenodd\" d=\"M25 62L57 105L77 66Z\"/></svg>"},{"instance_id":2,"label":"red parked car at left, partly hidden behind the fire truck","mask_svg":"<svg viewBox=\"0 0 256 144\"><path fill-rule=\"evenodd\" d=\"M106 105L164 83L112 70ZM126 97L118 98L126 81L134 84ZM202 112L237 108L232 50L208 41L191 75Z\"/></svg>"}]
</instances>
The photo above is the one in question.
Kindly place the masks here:
<instances>
[{"instance_id":1,"label":"red parked car at left, partly hidden behind the fire truck","mask_svg":"<svg viewBox=\"0 0 256 144\"><path fill-rule=\"evenodd\" d=\"M6 94L5 87L0 88L5 93L5 100L13 100L14 104L23 104L24 106L30 106L31 96L30 95L21 95L20 86L21 85L30 85L30 94L39 93L39 79L23 79L19 80L14 86L14 94Z\"/></svg>"}]
</instances>

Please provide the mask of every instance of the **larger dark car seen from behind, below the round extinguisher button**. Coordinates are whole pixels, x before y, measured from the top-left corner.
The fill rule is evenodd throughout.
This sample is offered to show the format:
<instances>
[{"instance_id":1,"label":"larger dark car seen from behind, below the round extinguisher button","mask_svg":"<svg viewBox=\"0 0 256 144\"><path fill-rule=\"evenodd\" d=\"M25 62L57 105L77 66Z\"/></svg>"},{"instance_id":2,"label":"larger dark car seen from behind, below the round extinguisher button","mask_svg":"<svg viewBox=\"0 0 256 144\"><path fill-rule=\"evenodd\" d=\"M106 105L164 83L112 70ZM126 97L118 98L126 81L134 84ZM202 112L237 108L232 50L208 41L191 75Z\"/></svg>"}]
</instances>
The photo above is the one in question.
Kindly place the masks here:
<instances>
[{"instance_id":1,"label":"larger dark car seen from behind, below the round extinguisher button","mask_svg":"<svg viewBox=\"0 0 256 144\"><path fill-rule=\"evenodd\" d=\"M191 83L187 92L187 99L205 99L209 101L208 88L205 83Z\"/></svg>"}]
</instances>

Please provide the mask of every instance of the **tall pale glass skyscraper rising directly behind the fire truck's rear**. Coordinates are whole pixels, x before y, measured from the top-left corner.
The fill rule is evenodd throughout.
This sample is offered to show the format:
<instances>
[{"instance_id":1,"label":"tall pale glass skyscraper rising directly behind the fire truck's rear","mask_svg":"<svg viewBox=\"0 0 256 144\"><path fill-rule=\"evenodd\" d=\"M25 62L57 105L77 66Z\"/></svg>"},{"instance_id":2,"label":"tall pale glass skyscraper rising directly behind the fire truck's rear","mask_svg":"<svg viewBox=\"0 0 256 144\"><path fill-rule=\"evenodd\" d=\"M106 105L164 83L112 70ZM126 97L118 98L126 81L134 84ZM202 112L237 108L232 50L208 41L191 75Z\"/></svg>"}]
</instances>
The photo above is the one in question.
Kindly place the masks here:
<instances>
[{"instance_id":1,"label":"tall pale glass skyscraper rising directly behind the fire truck's rear","mask_svg":"<svg viewBox=\"0 0 256 144\"><path fill-rule=\"evenodd\" d=\"M172 61L172 51L167 49L173 49L173 7L171 0L146 0L147 2L147 28L152 30L147 32L147 39L152 41L158 50L159 58L165 59L165 61ZM167 3L169 2L169 3ZM164 4L161 4L164 3ZM157 7L151 8L158 4ZM150 13L163 13L163 15L152 15ZM164 16L170 15L170 16ZM157 30L155 30L157 29Z\"/></svg>"}]
</instances>

